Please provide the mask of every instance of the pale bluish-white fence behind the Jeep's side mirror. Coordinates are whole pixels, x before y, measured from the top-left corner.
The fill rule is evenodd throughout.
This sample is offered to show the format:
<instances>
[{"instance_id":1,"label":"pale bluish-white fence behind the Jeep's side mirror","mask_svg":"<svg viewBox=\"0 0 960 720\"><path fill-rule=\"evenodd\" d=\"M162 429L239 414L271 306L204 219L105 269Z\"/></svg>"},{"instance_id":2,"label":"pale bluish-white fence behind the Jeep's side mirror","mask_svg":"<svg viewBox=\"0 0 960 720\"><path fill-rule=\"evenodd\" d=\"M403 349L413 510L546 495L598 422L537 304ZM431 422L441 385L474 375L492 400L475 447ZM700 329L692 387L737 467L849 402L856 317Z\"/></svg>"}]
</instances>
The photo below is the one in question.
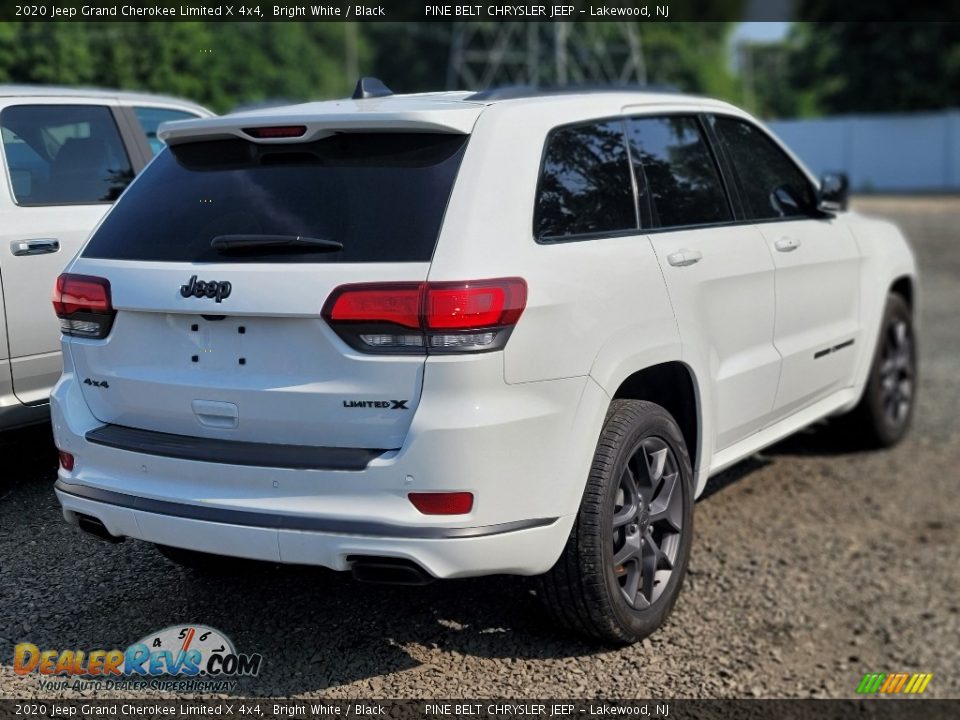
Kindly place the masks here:
<instances>
[{"instance_id":1,"label":"pale bluish-white fence behind the Jeep's side mirror","mask_svg":"<svg viewBox=\"0 0 960 720\"><path fill-rule=\"evenodd\" d=\"M960 110L768 124L814 173L842 170L855 192L960 191Z\"/></svg>"}]
</instances>

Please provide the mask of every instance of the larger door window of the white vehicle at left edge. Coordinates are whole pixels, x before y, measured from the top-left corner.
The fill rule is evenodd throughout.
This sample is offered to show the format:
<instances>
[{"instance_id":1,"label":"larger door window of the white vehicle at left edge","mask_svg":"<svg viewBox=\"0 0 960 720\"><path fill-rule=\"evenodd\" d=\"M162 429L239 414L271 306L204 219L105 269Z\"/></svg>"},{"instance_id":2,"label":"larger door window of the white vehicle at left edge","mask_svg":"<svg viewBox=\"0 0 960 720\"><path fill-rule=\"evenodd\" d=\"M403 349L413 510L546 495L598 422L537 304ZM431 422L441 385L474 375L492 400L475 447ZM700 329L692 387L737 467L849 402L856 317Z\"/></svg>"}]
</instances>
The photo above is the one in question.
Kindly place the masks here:
<instances>
[{"instance_id":1,"label":"larger door window of the white vehicle at left edge","mask_svg":"<svg viewBox=\"0 0 960 720\"><path fill-rule=\"evenodd\" d=\"M0 139L18 205L112 202L133 179L103 106L14 105L0 112Z\"/></svg>"}]
</instances>

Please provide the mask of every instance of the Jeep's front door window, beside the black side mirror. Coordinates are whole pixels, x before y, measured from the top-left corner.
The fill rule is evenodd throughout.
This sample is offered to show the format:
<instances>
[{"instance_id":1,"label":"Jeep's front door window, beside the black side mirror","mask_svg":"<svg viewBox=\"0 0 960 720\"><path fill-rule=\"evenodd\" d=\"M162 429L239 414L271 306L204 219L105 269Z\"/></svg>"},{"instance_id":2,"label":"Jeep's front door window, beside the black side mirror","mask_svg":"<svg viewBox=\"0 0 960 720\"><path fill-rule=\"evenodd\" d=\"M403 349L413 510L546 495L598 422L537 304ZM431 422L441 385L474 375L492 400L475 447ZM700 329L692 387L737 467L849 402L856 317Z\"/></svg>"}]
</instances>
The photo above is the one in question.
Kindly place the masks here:
<instances>
[{"instance_id":1,"label":"Jeep's front door window, beside the black side mirror","mask_svg":"<svg viewBox=\"0 0 960 720\"><path fill-rule=\"evenodd\" d=\"M812 214L816 200L810 182L766 133L734 118L717 117L714 127L737 174L751 220Z\"/></svg>"}]
</instances>

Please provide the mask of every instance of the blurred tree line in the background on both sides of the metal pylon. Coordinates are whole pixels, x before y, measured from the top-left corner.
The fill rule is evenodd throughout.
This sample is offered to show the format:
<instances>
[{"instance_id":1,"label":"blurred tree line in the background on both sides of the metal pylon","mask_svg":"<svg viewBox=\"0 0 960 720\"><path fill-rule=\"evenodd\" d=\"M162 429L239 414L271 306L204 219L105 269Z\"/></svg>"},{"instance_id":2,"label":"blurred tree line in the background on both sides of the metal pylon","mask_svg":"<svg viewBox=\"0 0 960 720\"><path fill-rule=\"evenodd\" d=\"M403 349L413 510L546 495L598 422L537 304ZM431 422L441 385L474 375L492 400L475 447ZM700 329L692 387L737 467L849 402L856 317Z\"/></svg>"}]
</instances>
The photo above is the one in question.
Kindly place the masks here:
<instances>
[{"instance_id":1,"label":"blurred tree line in the background on both sides of the metal pylon","mask_svg":"<svg viewBox=\"0 0 960 720\"><path fill-rule=\"evenodd\" d=\"M641 24L649 82L766 117L960 104L960 23L823 21L823 3L800 5L809 21L734 62L734 23ZM225 112L343 96L357 74L443 89L451 38L450 23L7 22L0 82L147 90Z\"/></svg>"}]
</instances>

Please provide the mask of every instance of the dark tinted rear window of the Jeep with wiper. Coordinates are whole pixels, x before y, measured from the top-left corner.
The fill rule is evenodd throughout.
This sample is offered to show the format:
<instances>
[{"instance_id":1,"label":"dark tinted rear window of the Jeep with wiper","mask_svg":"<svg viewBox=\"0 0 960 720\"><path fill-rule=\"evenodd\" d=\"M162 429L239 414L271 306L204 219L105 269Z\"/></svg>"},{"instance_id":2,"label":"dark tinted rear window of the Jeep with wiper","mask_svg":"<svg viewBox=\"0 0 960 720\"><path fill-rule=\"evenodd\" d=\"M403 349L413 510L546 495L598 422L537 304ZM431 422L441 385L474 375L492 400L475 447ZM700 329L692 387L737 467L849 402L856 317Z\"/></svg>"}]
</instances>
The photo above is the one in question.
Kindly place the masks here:
<instances>
[{"instance_id":1,"label":"dark tinted rear window of the Jeep with wiper","mask_svg":"<svg viewBox=\"0 0 960 720\"><path fill-rule=\"evenodd\" d=\"M85 257L168 262L425 262L467 136L341 133L310 143L167 148ZM315 238L342 249L216 250L214 238Z\"/></svg>"}]
</instances>

